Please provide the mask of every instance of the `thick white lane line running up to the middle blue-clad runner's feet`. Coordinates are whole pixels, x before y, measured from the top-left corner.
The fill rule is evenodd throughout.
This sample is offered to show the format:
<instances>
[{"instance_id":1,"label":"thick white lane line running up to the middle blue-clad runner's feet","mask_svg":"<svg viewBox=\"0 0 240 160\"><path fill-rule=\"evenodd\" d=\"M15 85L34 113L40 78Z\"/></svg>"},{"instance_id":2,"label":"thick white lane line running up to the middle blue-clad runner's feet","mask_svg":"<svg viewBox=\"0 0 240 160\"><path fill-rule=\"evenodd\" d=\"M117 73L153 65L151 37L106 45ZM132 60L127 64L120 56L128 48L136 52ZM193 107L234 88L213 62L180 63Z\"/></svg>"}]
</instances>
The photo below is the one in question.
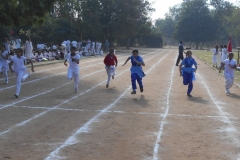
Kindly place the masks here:
<instances>
[{"instance_id":1,"label":"thick white lane line running up to the middle blue-clad runner's feet","mask_svg":"<svg viewBox=\"0 0 240 160\"><path fill-rule=\"evenodd\" d=\"M168 53L169 54L169 53ZM164 57L162 57L161 59L159 59L159 61L157 63L155 63L146 73L149 73L153 68L155 68L155 66L157 64L159 64L162 59L164 59L168 54L166 54ZM92 119L90 119L87 123L85 123L82 127L80 127L73 135L71 135L70 137L68 137L65 142L59 146L58 148L56 148L54 151L52 151L46 158L45 160L52 160L52 159L59 159L60 156L58 155L59 151L67 146L76 144L78 142L77 140L77 135L83 132L88 131L89 126L97 121L98 117L100 117L102 114L104 114L105 112L107 112L110 108L112 108L130 89L132 86L129 86L124 92L123 94L121 94L113 103L111 103L110 105L108 105L106 108L104 108L100 113L98 113L97 115L95 115Z\"/></svg>"}]
</instances>

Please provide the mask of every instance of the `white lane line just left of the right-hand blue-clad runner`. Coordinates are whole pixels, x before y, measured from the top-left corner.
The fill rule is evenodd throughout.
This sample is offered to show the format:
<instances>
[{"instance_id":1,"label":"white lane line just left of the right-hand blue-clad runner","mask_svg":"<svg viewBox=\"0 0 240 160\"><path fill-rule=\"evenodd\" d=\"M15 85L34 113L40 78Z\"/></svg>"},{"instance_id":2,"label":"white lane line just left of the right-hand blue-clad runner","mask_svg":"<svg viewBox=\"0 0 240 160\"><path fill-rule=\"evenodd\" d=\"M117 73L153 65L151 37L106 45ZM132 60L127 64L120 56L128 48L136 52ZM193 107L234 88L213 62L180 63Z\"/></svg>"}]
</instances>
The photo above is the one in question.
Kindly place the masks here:
<instances>
[{"instance_id":1,"label":"white lane line just left of the right-hand blue-clad runner","mask_svg":"<svg viewBox=\"0 0 240 160\"><path fill-rule=\"evenodd\" d=\"M170 103L170 92L172 90L174 68L175 68L175 65L173 65L172 71L171 71L172 74L171 74L171 78L170 78L170 85L169 85L168 92L167 92L167 107L166 107L163 119L161 121L160 129L159 129L159 132L158 132L158 135L157 135L157 139L156 139L156 142L155 142L155 145L154 145L153 160L158 160L159 143L160 143L161 136L162 136L162 133L163 133L164 123L166 121L166 118L168 116L168 111L169 111L169 108L170 108L170 105L169 105L169 103Z\"/></svg>"}]
</instances>

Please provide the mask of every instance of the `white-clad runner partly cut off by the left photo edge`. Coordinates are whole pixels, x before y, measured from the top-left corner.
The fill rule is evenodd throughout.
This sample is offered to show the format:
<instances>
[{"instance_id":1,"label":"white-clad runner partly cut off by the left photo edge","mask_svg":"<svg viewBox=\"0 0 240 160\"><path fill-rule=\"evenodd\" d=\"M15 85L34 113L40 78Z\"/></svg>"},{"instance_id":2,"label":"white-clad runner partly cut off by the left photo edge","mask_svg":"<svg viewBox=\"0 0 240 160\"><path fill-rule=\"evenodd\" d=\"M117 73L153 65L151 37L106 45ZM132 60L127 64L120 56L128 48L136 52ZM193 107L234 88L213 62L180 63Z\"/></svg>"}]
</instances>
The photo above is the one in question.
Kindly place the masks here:
<instances>
[{"instance_id":1,"label":"white-clad runner partly cut off by the left photo edge","mask_svg":"<svg viewBox=\"0 0 240 160\"><path fill-rule=\"evenodd\" d=\"M8 83L8 51L6 50L5 46L1 46L1 51L0 51L0 71L2 71L5 76L5 83Z\"/></svg>"}]
</instances>

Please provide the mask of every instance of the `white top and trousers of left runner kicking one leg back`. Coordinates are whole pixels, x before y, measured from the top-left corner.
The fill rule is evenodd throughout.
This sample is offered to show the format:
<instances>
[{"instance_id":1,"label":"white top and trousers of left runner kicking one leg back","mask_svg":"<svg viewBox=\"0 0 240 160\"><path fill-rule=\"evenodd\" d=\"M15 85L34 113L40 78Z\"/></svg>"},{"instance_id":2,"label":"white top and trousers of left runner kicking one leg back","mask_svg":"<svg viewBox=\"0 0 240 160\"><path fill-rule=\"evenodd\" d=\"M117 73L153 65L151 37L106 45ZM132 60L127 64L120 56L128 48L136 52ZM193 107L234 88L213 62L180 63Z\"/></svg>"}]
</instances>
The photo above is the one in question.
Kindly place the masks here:
<instances>
[{"instance_id":1,"label":"white top and trousers of left runner kicking one leg back","mask_svg":"<svg viewBox=\"0 0 240 160\"><path fill-rule=\"evenodd\" d=\"M17 96L20 94L22 81L24 81L30 75L29 73L27 73L27 68L24 66L25 60L26 57L24 56L21 56L20 58L18 58L17 56L11 57L11 61L13 62L13 71L17 76Z\"/></svg>"}]
</instances>

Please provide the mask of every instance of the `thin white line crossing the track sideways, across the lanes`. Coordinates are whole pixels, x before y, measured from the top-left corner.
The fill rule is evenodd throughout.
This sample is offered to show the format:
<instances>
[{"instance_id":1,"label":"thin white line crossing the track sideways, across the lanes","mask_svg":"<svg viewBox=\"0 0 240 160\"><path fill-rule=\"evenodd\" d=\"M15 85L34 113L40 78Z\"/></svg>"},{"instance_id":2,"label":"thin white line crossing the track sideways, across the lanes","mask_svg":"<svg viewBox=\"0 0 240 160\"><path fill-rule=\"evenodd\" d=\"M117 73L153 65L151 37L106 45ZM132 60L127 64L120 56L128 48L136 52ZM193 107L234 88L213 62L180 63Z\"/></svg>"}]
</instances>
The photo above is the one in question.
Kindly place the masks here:
<instances>
[{"instance_id":1,"label":"thin white line crossing the track sideways, across the lanes","mask_svg":"<svg viewBox=\"0 0 240 160\"><path fill-rule=\"evenodd\" d=\"M33 106L17 106L14 105L12 107L16 108L28 108L28 109L43 109L43 110L59 110L59 111L74 111L74 112L102 112L102 110L86 110L86 109L74 109L74 108L52 108L52 107L33 107ZM140 115L160 115L161 117L164 116L163 113L160 112L125 112L125 111L117 111L117 110L110 110L107 111L106 113L119 113L119 114L140 114ZM186 115L186 114L168 114L167 116L172 116L172 117L192 117L192 118L222 118L222 116L203 116L203 115ZM228 117L229 119L239 119L236 117Z\"/></svg>"}]
</instances>

